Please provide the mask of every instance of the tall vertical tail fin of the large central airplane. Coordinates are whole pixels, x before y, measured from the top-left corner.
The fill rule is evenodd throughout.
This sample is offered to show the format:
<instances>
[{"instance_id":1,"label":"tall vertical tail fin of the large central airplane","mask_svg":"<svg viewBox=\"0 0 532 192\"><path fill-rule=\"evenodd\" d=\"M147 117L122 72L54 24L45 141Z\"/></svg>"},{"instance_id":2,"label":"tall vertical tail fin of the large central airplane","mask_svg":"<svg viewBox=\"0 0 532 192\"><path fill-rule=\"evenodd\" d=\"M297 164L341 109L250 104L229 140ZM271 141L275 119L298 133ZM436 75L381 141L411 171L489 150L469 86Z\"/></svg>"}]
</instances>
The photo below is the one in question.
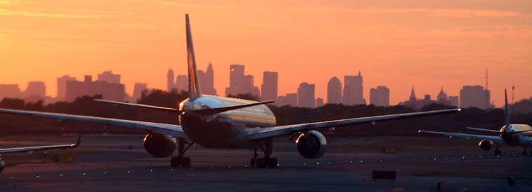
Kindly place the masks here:
<instances>
[{"instance_id":1,"label":"tall vertical tail fin of the large central airplane","mask_svg":"<svg viewBox=\"0 0 532 192\"><path fill-rule=\"evenodd\" d=\"M196 57L194 56L194 45L192 43L192 33L190 32L190 20L188 14L185 15L187 30L187 67L188 67L188 98L194 101L202 94L200 92L200 82L197 80Z\"/></svg>"}]
</instances>

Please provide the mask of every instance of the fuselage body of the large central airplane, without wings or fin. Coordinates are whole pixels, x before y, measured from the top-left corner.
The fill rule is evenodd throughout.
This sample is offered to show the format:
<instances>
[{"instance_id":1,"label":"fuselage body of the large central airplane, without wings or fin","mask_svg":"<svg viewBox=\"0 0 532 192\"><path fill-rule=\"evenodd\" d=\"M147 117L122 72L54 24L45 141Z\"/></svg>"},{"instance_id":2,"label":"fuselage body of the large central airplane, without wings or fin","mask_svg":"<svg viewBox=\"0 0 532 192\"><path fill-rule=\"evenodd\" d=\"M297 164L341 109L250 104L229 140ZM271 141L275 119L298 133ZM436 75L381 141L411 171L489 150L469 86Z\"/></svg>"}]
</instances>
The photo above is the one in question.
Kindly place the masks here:
<instances>
[{"instance_id":1,"label":"fuselage body of the large central airplane, without wings or fin","mask_svg":"<svg viewBox=\"0 0 532 192\"><path fill-rule=\"evenodd\" d=\"M243 148L246 147L246 129L276 125L276 119L266 105L230 110L216 115L198 115L192 110L223 108L233 105L256 103L238 98L202 95L179 104L184 111L179 116L183 131L190 140L207 148Z\"/></svg>"}]
</instances>

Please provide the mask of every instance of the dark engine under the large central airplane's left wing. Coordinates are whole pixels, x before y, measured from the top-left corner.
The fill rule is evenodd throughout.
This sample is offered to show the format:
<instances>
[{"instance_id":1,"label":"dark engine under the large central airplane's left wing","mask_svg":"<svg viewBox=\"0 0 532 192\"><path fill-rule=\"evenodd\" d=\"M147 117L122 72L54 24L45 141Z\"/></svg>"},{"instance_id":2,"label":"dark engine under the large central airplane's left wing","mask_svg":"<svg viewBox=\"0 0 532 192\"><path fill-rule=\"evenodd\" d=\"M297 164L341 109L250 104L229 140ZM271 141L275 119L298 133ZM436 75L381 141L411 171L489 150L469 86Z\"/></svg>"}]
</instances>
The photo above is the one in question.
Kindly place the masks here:
<instances>
[{"instance_id":1,"label":"dark engine under the large central airplane's left wing","mask_svg":"<svg viewBox=\"0 0 532 192\"><path fill-rule=\"evenodd\" d=\"M176 150L177 140L170 135L150 133L144 138L144 149L151 156L164 158Z\"/></svg>"}]
</instances>

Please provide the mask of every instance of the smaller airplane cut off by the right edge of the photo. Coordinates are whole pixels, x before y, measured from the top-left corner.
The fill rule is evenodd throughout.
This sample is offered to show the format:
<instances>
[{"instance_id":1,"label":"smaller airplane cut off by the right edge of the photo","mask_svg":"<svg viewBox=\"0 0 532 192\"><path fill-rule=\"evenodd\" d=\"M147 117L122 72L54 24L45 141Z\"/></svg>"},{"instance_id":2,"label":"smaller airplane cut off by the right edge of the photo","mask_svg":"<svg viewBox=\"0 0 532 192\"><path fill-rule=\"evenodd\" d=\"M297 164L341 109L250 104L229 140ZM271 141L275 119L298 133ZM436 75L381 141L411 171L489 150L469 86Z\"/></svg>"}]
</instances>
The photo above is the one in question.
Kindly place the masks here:
<instances>
[{"instance_id":1,"label":"smaller airplane cut off by the right edge of the photo","mask_svg":"<svg viewBox=\"0 0 532 192\"><path fill-rule=\"evenodd\" d=\"M526 124L510 124L510 115L508 115L508 97L506 94L506 89L504 89L504 118L505 118L505 125L500 128L499 131L491 130L491 129L484 129L484 128L473 128L468 127L468 129L475 130L475 131L484 131L489 133L497 133L498 135L472 135L472 134L465 134L465 133L447 133L447 132L437 132L437 131L423 131L419 130L419 133L430 133L430 134L437 134L437 135L445 135L449 138L456 137L456 138L474 138L474 139L480 139L480 142L478 143L479 147L484 151L489 151L493 144L495 144L496 149L494 150L493 154L495 156L500 156L502 153L500 152L499 147L501 145L510 145L510 146L520 146L523 147L523 152L521 153L523 156L528 156L528 152L526 152L526 147L532 147L532 127L528 126ZM532 154L532 152L531 152Z\"/></svg>"}]
</instances>

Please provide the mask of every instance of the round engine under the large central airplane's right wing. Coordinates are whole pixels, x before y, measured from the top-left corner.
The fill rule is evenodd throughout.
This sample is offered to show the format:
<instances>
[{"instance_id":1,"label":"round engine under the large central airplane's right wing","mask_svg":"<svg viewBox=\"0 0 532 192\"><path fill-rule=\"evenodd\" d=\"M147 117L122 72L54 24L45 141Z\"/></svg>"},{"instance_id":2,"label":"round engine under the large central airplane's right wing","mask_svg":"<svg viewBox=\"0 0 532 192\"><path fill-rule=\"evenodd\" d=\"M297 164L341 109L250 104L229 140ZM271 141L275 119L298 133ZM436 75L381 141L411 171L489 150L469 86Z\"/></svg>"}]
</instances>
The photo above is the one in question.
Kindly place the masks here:
<instances>
[{"instance_id":1,"label":"round engine under the large central airplane's right wing","mask_svg":"<svg viewBox=\"0 0 532 192\"><path fill-rule=\"evenodd\" d=\"M295 140L295 145L297 145L297 151L304 158L319 158L325 153L327 140L318 131L309 131L307 134L302 133Z\"/></svg>"}]
</instances>

